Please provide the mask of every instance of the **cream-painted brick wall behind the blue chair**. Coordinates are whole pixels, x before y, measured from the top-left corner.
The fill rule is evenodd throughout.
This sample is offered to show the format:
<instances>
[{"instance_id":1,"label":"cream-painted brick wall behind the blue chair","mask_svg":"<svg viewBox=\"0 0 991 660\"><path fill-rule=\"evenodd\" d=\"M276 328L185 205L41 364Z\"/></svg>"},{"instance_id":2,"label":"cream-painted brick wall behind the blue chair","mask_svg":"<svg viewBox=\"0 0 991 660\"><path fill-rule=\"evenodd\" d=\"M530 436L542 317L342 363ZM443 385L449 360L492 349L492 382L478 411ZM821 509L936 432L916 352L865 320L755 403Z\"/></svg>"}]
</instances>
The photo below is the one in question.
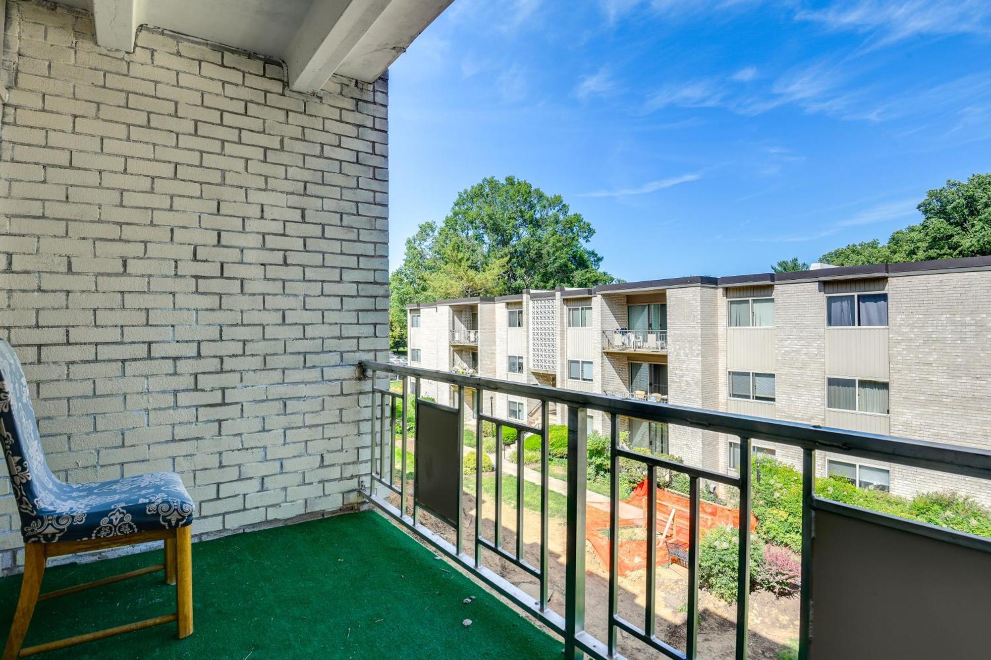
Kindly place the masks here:
<instances>
[{"instance_id":1,"label":"cream-painted brick wall behind the blue chair","mask_svg":"<svg viewBox=\"0 0 991 660\"><path fill-rule=\"evenodd\" d=\"M388 335L385 79L299 94L277 62L148 28L110 51L85 13L6 4L0 336L52 469L174 470L197 533L357 501L355 364Z\"/></svg>"}]
</instances>

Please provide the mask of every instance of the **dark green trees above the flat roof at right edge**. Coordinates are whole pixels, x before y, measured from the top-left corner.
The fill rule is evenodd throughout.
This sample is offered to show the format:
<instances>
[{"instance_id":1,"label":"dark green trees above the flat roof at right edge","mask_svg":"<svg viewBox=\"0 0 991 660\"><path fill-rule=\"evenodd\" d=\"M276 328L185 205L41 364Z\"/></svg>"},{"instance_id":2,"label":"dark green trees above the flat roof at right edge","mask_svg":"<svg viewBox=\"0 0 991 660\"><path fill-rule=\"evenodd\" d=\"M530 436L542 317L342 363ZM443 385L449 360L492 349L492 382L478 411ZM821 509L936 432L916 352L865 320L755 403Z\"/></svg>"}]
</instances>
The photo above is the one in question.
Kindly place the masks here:
<instances>
[{"instance_id":1,"label":"dark green trees above the flat roof at right edge","mask_svg":"<svg viewBox=\"0 0 991 660\"><path fill-rule=\"evenodd\" d=\"M833 266L991 255L991 173L973 174L966 182L946 181L930 190L916 208L923 221L899 229L888 242L865 241L823 255Z\"/></svg>"}]
</instances>

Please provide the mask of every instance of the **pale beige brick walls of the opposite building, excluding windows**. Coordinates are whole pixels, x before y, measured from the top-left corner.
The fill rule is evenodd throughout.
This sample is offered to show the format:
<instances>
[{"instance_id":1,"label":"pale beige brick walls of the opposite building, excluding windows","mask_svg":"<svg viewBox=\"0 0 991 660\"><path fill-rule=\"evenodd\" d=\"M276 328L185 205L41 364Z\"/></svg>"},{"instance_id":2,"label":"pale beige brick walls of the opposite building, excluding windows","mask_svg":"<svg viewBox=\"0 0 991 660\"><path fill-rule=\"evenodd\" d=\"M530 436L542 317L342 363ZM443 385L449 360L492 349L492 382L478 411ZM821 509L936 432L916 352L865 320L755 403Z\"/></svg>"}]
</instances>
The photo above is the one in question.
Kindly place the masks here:
<instances>
[{"instance_id":1,"label":"pale beige brick walls of the opposite building, excluding windows","mask_svg":"<svg viewBox=\"0 0 991 660\"><path fill-rule=\"evenodd\" d=\"M832 425L850 430L890 433L936 442L991 448L991 390L986 374L991 367L991 288L986 269L944 272L898 273L889 276L830 278L829 271L805 278L755 275L756 281L736 285L688 283L672 280L633 282L628 292L597 290L589 297L574 297L567 289L555 293L557 309L557 384L573 389L631 395L630 363L666 364L669 401L679 405L724 410L808 424ZM696 278L698 279L698 278ZM621 288L621 287L620 287ZM660 291L663 291L661 295ZM826 327L826 299L830 294L887 291L889 326ZM523 294L526 306L529 295ZM728 328L728 300L773 298L773 327ZM666 348L661 352L606 351L604 333L629 325L628 305L664 300L667 305ZM569 306L590 305L594 310L592 332L567 327ZM505 303L493 306L496 324L504 324ZM530 321L524 317L524 323ZM495 373L506 378L504 329L495 330ZM567 378L569 359L595 363L591 384ZM527 364L527 370L530 365ZM728 396L730 371L774 374L775 400L741 400ZM529 373L529 382L546 383ZM826 407L826 378L860 378L889 382L890 414L831 410ZM505 396L495 411L505 416ZM563 406L562 406L563 408ZM562 416L563 423L566 418ZM606 416L594 412L593 426L607 433ZM620 419L620 431L629 430ZM721 434L672 425L670 452L687 463L718 471L730 469L728 442ZM754 440L755 446L774 450L783 461L801 469L801 450ZM820 452L817 473L826 474L827 460L850 462L849 457ZM957 490L991 502L991 485L958 477L879 463L854 460L864 466L890 471L891 490L900 495Z\"/></svg>"}]
</instances>

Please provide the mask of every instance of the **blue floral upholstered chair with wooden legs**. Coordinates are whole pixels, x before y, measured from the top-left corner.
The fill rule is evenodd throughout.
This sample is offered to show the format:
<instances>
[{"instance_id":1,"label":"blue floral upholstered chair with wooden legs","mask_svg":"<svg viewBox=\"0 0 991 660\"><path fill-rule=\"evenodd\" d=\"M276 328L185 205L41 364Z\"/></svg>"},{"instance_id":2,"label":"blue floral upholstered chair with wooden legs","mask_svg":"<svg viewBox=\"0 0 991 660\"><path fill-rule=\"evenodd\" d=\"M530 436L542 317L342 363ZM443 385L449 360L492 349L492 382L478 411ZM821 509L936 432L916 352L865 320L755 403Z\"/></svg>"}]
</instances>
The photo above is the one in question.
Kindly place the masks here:
<instances>
[{"instance_id":1,"label":"blue floral upholstered chair with wooden legs","mask_svg":"<svg viewBox=\"0 0 991 660\"><path fill-rule=\"evenodd\" d=\"M24 578L3 660L64 648L176 621L178 636L192 632L193 501L179 476L158 473L99 484L65 484L45 461L31 392L17 355L0 339L0 443L21 515ZM165 561L112 578L41 594L49 557L149 541L165 542ZM127 625L21 648L35 604L57 596L165 570L175 585L176 611Z\"/></svg>"}]
</instances>

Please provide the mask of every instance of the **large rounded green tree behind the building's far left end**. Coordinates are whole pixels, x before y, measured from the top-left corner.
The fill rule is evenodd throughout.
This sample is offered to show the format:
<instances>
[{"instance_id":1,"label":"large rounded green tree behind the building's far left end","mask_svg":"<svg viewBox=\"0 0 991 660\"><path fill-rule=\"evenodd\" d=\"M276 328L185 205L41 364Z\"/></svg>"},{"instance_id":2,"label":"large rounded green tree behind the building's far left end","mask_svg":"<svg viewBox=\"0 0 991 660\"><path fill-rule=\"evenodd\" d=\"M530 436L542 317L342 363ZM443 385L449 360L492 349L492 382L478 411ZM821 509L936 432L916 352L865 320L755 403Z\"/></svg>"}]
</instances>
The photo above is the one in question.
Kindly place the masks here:
<instances>
[{"instance_id":1,"label":"large rounded green tree behind the building's far left end","mask_svg":"<svg viewBox=\"0 0 991 660\"><path fill-rule=\"evenodd\" d=\"M389 279L390 345L406 343L409 303L616 281L588 247L595 233L561 195L515 176L462 190L443 223L425 222L406 240Z\"/></svg>"}]
</instances>

